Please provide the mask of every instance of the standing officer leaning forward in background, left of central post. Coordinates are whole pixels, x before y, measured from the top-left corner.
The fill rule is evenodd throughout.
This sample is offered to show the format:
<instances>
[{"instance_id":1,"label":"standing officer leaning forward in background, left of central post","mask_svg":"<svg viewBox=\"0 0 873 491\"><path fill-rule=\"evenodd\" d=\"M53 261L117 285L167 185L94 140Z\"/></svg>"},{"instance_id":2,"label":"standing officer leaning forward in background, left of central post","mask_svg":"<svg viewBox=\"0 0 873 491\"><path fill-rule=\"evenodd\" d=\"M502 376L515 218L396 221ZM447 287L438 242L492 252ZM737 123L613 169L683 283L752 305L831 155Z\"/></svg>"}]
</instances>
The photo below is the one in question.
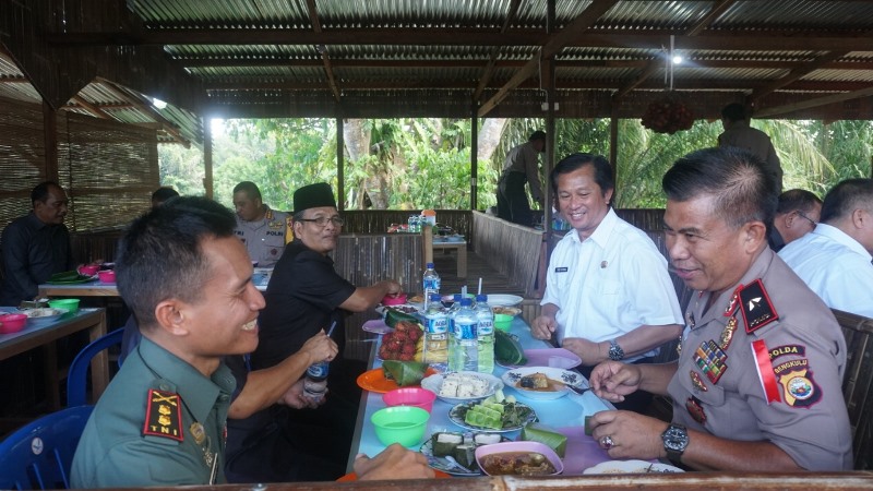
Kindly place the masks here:
<instances>
[{"instance_id":1,"label":"standing officer leaning forward in background, left of central post","mask_svg":"<svg viewBox=\"0 0 873 491\"><path fill-rule=\"evenodd\" d=\"M539 180L539 154L546 152L546 133L535 131L506 155L503 173L498 181L498 216L514 224L534 225L525 182L530 185L534 201L542 205L542 184Z\"/></svg>"}]
</instances>

